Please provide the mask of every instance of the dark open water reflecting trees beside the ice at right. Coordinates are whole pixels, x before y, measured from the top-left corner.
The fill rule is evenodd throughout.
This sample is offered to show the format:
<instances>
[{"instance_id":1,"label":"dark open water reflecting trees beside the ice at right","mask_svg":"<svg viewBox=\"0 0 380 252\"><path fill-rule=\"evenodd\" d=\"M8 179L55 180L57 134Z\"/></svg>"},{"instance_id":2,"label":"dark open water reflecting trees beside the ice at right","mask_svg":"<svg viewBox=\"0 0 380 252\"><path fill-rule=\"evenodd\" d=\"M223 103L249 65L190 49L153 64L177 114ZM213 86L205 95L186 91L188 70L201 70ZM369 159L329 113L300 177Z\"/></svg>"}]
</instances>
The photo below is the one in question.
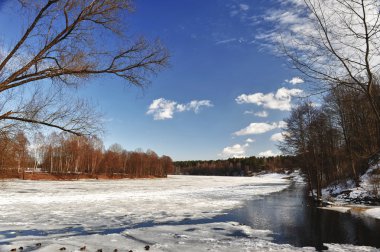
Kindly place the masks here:
<instances>
[{"instance_id":1,"label":"dark open water reflecting trees beside the ice at right","mask_svg":"<svg viewBox=\"0 0 380 252\"><path fill-rule=\"evenodd\" d=\"M308 201L305 187L288 189L248 201L232 215L240 223L274 232L276 243L322 248L323 243L380 248L380 220L318 209Z\"/></svg>"}]
</instances>

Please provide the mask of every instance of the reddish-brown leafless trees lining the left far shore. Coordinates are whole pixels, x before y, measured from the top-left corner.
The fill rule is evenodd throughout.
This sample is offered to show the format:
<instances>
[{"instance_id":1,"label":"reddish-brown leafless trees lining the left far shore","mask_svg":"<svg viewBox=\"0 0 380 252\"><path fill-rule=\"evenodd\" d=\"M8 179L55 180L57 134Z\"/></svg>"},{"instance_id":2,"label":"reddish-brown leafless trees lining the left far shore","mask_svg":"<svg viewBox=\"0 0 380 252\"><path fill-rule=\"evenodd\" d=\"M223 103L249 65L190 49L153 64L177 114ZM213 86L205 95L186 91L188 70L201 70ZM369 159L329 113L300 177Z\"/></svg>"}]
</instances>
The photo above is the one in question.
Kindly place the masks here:
<instances>
[{"instance_id":1,"label":"reddish-brown leafless trees lining the left far shore","mask_svg":"<svg viewBox=\"0 0 380 252\"><path fill-rule=\"evenodd\" d=\"M37 133L30 141L23 132L0 135L0 175L23 172L51 174L122 174L131 178L166 177L172 159L154 151L126 151L119 144L105 150L98 137Z\"/></svg>"}]
</instances>

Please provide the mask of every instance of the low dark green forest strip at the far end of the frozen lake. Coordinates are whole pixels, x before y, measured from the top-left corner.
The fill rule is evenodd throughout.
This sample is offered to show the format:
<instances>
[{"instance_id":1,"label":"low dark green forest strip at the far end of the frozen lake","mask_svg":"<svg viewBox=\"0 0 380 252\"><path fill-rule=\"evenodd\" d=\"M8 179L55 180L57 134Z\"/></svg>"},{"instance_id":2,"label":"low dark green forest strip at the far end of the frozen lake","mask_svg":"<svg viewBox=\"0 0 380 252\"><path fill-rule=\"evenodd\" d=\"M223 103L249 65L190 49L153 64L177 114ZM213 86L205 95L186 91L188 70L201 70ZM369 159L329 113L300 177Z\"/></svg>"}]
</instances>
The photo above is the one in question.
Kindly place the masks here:
<instances>
[{"instance_id":1,"label":"low dark green forest strip at the far end of the frozen lake","mask_svg":"<svg viewBox=\"0 0 380 252\"><path fill-rule=\"evenodd\" d=\"M262 171L283 172L298 167L293 156L229 158L227 160L177 161L176 174L252 176Z\"/></svg>"}]
</instances>

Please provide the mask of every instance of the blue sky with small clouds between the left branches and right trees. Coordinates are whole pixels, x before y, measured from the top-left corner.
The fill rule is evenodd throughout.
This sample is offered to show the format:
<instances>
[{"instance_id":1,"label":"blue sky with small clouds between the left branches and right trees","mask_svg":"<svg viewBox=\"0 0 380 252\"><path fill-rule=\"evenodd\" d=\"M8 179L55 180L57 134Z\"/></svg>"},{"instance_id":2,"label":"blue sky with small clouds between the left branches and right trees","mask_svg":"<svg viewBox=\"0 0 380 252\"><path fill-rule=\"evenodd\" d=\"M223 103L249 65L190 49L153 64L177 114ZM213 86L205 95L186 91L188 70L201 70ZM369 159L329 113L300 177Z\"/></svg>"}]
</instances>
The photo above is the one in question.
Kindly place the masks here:
<instances>
[{"instance_id":1,"label":"blue sky with small clouds between the left branches and right trees","mask_svg":"<svg viewBox=\"0 0 380 252\"><path fill-rule=\"evenodd\" d=\"M174 160L278 153L281 121L305 85L286 59L259 39L272 29L265 14L282 5L274 0L134 2L136 11L125 20L128 32L159 38L170 52L170 66L144 89L108 77L78 89L105 115L106 147L117 142ZM4 18L0 30L7 31Z\"/></svg>"}]
</instances>

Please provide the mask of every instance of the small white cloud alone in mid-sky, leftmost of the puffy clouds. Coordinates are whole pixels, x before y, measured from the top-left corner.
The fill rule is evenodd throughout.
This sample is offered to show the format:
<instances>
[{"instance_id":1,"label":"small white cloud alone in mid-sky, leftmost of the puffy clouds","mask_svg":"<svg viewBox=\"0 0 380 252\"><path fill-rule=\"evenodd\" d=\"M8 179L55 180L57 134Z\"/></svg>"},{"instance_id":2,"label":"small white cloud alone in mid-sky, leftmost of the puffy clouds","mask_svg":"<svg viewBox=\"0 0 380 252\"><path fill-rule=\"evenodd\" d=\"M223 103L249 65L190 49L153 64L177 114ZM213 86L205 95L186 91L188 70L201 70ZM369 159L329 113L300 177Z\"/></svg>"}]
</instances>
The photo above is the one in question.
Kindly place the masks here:
<instances>
[{"instance_id":1,"label":"small white cloud alone in mid-sky, leftmost of the puffy clouds","mask_svg":"<svg viewBox=\"0 0 380 252\"><path fill-rule=\"evenodd\" d=\"M180 104L176 101L166 100L164 98L156 99L150 104L147 114L153 115L154 120L172 119L174 113L185 111L194 111L198 113L202 107L212 107L213 104L209 100L193 100L187 104Z\"/></svg>"}]
</instances>

